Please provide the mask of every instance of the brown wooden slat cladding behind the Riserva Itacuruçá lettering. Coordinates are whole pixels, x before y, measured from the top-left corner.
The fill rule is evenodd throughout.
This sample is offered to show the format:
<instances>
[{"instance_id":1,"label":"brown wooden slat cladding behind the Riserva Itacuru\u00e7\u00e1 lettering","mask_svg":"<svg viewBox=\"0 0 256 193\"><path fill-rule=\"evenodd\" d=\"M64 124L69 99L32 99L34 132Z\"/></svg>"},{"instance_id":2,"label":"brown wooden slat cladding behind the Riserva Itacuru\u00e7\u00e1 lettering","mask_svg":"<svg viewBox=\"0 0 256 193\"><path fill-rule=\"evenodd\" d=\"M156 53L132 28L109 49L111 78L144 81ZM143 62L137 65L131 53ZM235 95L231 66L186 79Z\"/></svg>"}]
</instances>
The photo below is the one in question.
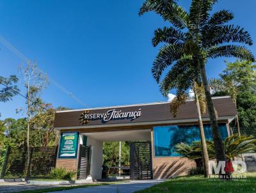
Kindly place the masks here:
<instances>
[{"instance_id":1,"label":"brown wooden slat cladding behind the Riserva Itacuru\u00e7\u00e1 lettering","mask_svg":"<svg viewBox=\"0 0 256 193\"><path fill-rule=\"evenodd\" d=\"M236 105L229 97L226 98L213 98L213 103L218 116L235 116L237 114ZM169 120L182 120L182 119L194 119L197 118L195 101L188 101L185 105L182 105L177 113L177 116L173 118L170 113L170 103L158 103L149 105L132 105L126 107L114 107L114 108L102 108L92 109L90 113L104 113L110 109L116 109L116 111L129 112L138 111L141 109L141 116L135 120L118 119L110 120L107 123L102 123L102 120L91 120L86 125L109 125L118 123L140 123L148 121L169 121ZM54 120L54 127L76 127L81 126L79 123L79 117L84 111L68 111L57 112ZM206 112L204 118L209 115Z\"/></svg>"}]
</instances>

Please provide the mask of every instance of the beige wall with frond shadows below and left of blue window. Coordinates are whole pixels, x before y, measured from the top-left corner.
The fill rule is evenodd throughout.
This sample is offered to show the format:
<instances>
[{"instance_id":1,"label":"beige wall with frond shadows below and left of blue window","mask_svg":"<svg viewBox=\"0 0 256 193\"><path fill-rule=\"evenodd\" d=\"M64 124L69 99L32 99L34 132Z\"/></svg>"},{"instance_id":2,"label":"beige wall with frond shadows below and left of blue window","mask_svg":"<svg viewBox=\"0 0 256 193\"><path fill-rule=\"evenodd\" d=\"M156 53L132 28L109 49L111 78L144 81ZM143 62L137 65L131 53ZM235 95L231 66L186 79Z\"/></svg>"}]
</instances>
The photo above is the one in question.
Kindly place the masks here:
<instances>
[{"instance_id":1,"label":"beige wall with frond shadows below and left of blue window","mask_svg":"<svg viewBox=\"0 0 256 193\"><path fill-rule=\"evenodd\" d=\"M155 157L154 155L154 133L151 130L152 141L152 169L154 179L171 178L172 176L186 175L196 164L193 160L185 157Z\"/></svg>"}]
</instances>

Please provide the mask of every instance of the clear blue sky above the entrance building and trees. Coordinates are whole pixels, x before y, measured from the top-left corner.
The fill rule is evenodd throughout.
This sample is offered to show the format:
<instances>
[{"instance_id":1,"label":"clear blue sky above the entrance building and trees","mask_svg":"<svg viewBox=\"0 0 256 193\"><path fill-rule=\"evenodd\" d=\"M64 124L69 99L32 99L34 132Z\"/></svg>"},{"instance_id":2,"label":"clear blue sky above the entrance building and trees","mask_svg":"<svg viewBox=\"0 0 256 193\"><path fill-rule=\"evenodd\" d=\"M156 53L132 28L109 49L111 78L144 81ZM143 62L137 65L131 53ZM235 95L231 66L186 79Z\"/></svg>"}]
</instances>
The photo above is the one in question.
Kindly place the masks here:
<instances>
[{"instance_id":1,"label":"clear blue sky above the entrance building and trees","mask_svg":"<svg viewBox=\"0 0 256 193\"><path fill-rule=\"evenodd\" d=\"M243 2L243 3L242 3ZM0 35L86 106L50 84L42 98L72 109L165 101L150 69L157 54L153 32L168 26L159 16L138 16L143 1L0 1ZM180 0L186 10L190 1ZM256 40L255 0L220 0L214 11L235 14L232 23ZM0 43L0 75L18 75L22 60ZM250 47L256 54L256 47ZM224 59L207 63L208 77L225 68ZM228 61L234 61L228 59ZM22 82L19 82L24 93ZM24 98L0 103L1 119L19 118Z\"/></svg>"}]
</instances>

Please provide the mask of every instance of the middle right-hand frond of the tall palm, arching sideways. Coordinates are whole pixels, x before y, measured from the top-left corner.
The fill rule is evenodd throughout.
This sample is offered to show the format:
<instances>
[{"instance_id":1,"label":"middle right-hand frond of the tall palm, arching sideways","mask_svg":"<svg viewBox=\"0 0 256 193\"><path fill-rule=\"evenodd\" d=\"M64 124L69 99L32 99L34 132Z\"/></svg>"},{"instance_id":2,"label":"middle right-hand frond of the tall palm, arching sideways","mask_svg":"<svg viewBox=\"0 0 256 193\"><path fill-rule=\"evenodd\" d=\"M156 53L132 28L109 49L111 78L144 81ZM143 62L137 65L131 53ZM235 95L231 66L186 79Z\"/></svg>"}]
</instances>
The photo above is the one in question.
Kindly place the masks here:
<instances>
[{"instance_id":1,"label":"middle right-hand frond of the tall palm, arching sideways","mask_svg":"<svg viewBox=\"0 0 256 193\"><path fill-rule=\"evenodd\" d=\"M205 31L204 45L211 47L221 43L238 42L252 45L252 38L248 31L234 25L221 26L216 29Z\"/></svg>"}]
</instances>

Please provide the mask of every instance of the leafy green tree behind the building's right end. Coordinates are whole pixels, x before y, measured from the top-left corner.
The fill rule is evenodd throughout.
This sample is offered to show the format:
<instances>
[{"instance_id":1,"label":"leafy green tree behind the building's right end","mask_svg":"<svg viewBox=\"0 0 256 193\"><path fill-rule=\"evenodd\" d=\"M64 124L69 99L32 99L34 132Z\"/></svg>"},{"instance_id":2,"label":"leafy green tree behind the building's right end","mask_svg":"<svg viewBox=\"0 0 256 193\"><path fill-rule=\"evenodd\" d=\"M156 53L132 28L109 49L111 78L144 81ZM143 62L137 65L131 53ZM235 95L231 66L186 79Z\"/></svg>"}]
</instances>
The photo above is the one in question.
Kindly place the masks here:
<instances>
[{"instance_id":1,"label":"leafy green tree behind the building's right end","mask_svg":"<svg viewBox=\"0 0 256 193\"><path fill-rule=\"evenodd\" d=\"M250 61L226 63L220 79L211 79L213 96L229 95L237 106L237 121L230 126L240 134L256 136L256 65Z\"/></svg>"}]
</instances>

